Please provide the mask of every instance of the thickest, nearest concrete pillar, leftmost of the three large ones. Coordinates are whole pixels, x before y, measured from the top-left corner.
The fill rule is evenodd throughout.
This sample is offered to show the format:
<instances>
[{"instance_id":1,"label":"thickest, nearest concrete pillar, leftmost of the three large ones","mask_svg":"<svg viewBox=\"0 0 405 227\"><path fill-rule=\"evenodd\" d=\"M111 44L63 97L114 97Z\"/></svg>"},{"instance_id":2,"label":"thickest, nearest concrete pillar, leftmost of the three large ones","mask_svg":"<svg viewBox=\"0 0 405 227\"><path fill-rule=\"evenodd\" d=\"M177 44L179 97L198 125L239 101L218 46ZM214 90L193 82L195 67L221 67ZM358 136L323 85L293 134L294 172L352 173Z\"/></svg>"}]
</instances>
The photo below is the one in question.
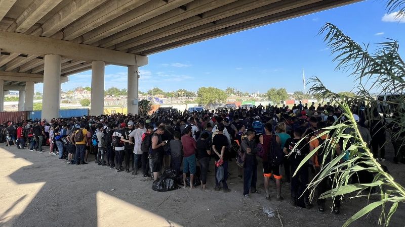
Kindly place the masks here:
<instances>
[{"instance_id":1,"label":"thickest, nearest concrete pillar, leftmost of the three large ones","mask_svg":"<svg viewBox=\"0 0 405 227\"><path fill-rule=\"evenodd\" d=\"M53 118L59 118L61 56L47 54L44 59L44 91L41 120L46 119L49 122Z\"/></svg>"}]
</instances>

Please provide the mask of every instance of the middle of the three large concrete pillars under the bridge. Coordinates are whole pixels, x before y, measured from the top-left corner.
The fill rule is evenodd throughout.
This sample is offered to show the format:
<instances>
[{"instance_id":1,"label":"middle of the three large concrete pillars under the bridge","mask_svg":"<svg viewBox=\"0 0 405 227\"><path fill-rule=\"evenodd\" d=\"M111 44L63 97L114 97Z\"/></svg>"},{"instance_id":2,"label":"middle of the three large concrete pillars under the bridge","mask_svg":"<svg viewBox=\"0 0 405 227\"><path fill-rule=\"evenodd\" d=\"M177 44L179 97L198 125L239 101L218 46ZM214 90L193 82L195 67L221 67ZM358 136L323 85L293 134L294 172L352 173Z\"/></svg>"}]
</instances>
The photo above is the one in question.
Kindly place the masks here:
<instances>
[{"instance_id":1,"label":"middle of the three large concrete pillars under the bridge","mask_svg":"<svg viewBox=\"0 0 405 227\"><path fill-rule=\"evenodd\" d=\"M100 116L104 112L104 67L105 63L102 61L92 62L91 116Z\"/></svg>"}]
</instances>

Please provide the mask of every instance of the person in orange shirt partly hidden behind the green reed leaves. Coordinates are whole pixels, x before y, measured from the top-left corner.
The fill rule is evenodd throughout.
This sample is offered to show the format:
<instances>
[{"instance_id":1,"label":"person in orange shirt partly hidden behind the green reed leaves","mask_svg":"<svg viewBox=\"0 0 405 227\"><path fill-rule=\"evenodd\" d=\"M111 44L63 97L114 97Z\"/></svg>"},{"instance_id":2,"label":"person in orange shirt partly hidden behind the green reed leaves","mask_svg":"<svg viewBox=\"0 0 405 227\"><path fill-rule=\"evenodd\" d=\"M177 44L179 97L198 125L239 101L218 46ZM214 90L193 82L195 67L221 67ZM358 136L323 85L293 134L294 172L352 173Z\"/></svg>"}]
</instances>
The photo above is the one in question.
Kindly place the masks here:
<instances>
[{"instance_id":1,"label":"person in orange shirt partly hidden behind the green reed leaves","mask_svg":"<svg viewBox=\"0 0 405 227\"><path fill-rule=\"evenodd\" d=\"M329 134L325 134L319 138L316 138L319 134L325 132L324 128L326 128L327 125L325 122L318 122L316 124L316 128L318 129L317 133L311 137L311 140L309 142L309 152L313 151L315 148L318 146L321 146L322 144L325 143L325 141L330 138ZM325 147L323 147L325 148ZM331 161L331 156L332 154L328 154L328 156L324 159L324 149L318 149L315 154L312 156L312 163L313 167L315 168L315 174L318 174L320 171L320 168L322 165L326 165ZM339 144L336 144L336 154L339 155L341 153ZM318 191L318 212L319 213L324 213L325 212L325 201L326 199L319 199L323 193L326 191L332 189L332 181L330 178L325 178L323 179L317 186L317 191ZM336 196L335 199L333 200L333 207L332 207L332 212L336 215L340 214L340 196Z\"/></svg>"}]
</instances>

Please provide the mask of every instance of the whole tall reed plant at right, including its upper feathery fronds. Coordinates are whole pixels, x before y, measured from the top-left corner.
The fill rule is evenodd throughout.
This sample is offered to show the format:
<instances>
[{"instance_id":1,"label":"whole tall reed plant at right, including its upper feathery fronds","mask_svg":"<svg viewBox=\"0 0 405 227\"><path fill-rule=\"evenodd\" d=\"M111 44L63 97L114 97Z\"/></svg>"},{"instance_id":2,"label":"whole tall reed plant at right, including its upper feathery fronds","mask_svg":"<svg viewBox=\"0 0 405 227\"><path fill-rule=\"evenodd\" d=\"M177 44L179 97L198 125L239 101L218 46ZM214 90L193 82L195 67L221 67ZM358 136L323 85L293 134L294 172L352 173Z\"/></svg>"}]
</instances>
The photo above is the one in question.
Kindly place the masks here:
<instances>
[{"instance_id":1,"label":"whole tall reed plant at right, including its upper feathery fronds","mask_svg":"<svg viewBox=\"0 0 405 227\"><path fill-rule=\"evenodd\" d=\"M395 6L392 5L393 2L404 3L404 1L389 2L388 6ZM376 187L379 189L378 194L381 199L361 208L344 223L344 226L378 207L382 210L379 223L388 225L398 205L405 202L405 189L396 183L394 178L386 173L373 157L373 153L360 136L352 113L361 111L363 107L368 110L366 111L366 118L370 119L379 107L381 109L382 104L388 104L390 108L386 108L382 112L384 118L380 119L391 122L391 128L387 130L391 130L392 141L402 141L403 145L405 140L403 136L405 133L405 110L403 106L405 103L403 93L405 64L398 54L399 45L395 40L388 39L386 42L378 43L376 51L372 53L369 51L368 44L359 45L330 23L321 28L320 34L325 35L325 42L332 54L335 55L333 61L337 62L336 69L351 72L350 75L354 77L358 85L355 91L352 91L353 94L338 94L328 90L316 77L309 80L309 84L311 84L309 93L317 99L337 103L343 112L334 125L327 127L325 131L315 137L317 139L322 135L328 135L330 139L310 152L300 164L300 167L304 165L318 150L324 152L324 157L329 155L333 157L328 163L325 162L325 158L321 160L320 172L307 188L310 192L310 199L314 198L315 188L323 179L332 179L332 189L323 193L320 198L337 199L337 196L342 196L343 199L345 195L350 195L349 198L366 197L369 199L370 194L365 194L365 190ZM379 94L395 95L382 103L370 94L371 90ZM347 133L348 129L352 132ZM339 141L341 141L340 148L343 152L337 155L335 150ZM300 143L302 142L304 140ZM348 159L342 161L346 154L349 155ZM351 179L355 178L359 171L373 173L373 182L369 184L352 183Z\"/></svg>"}]
</instances>

